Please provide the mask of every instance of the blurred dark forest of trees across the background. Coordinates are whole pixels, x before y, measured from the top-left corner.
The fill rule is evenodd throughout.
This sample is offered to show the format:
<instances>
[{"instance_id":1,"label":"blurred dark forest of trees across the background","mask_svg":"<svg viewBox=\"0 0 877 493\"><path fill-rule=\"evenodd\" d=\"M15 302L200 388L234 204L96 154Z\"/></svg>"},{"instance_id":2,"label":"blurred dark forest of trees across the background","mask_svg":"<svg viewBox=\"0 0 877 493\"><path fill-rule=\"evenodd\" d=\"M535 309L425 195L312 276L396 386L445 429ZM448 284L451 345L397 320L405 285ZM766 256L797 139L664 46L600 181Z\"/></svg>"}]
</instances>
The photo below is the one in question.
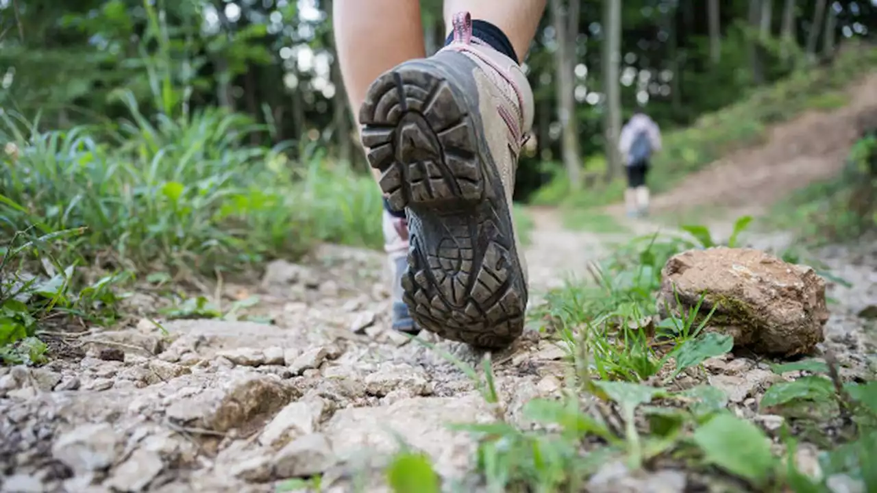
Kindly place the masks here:
<instances>
[{"instance_id":1,"label":"blurred dark forest of trees across the background","mask_svg":"<svg viewBox=\"0 0 877 493\"><path fill-rule=\"evenodd\" d=\"M430 51L446 36L441 4L421 2ZM130 117L118 97L127 90L153 121L222 106L264 127L253 139L293 140L293 158L322 147L361 162L353 120L341 118L352 111L334 62L329 5L0 0L0 107L39 113L44 128L99 124L111 136ZM608 22L616 8L617 22ZM664 128L688 125L754 81L788 75L808 47L831 54L877 30L869 0L551 0L546 13L525 61L536 138L522 154L518 198L558 173L578 183L576 168L612 176L617 127L635 106ZM562 49L559 39L567 39Z\"/></svg>"}]
</instances>

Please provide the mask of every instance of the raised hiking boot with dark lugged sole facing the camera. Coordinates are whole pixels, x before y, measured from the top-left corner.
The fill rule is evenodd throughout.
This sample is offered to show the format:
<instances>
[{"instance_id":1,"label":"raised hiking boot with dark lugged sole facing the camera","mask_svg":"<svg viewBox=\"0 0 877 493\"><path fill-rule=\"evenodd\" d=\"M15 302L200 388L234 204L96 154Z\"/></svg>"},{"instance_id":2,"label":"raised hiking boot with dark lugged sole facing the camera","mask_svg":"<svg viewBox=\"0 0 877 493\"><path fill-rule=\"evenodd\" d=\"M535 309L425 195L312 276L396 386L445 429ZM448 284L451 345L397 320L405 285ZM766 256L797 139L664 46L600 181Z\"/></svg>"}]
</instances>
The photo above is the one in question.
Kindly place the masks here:
<instances>
[{"instance_id":1,"label":"raised hiking boot with dark lugged sole facing the camera","mask_svg":"<svg viewBox=\"0 0 877 493\"><path fill-rule=\"evenodd\" d=\"M517 62L472 37L378 77L360 110L362 144L410 232L403 299L417 328L475 347L524 330L526 266L511 216L533 95Z\"/></svg>"}]
</instances>

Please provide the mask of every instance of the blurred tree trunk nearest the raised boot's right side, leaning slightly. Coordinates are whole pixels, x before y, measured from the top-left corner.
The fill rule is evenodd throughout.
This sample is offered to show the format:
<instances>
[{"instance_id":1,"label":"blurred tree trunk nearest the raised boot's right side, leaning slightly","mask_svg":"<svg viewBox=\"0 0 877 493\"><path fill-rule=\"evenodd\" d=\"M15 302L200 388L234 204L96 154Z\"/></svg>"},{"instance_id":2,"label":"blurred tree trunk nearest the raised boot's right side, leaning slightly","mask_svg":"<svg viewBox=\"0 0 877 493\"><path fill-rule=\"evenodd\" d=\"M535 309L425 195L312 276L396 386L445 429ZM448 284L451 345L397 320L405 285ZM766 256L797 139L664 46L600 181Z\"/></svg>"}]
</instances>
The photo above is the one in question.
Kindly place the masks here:
<instances>
[{"instance_id":1,"label":"blurred tree trunk nearest the raised boot's right side, leaning slightly","mask_svg":"<svg viewBox=\"0 0 877 493\"><path fill-rule=\"evenodd\" d=\"M572 0L577 4L579 0ZM557 53L554 54L554 67L557 75L558 93L558 119L562 130L561 156L564 168L567 169L571 189L581 188L581 150L579 148L578 131L575 119L575 53L574 37L577 32L570 32L572 22L564 15L569 11L578 10L578 6L570 5L569 11L564 11L560 0L551 0L552 21L557 32ZM575 25L577 28L578 25Z\"/></svg>"}]
</instances>

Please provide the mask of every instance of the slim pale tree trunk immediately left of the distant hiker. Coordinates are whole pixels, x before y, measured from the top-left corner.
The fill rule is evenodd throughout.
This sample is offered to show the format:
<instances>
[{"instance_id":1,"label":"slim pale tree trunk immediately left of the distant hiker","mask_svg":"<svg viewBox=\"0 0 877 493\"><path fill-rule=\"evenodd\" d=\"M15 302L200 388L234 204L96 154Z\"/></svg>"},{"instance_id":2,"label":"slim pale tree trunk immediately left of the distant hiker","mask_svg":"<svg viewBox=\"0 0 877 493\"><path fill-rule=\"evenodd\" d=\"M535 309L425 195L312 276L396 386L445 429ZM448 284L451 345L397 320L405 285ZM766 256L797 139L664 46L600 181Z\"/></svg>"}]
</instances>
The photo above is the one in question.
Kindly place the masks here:
<instances>
[{"instance_id":1,"label":"slim pale tree trunk immediately left of the distant hiker","mask_svg":"<svg viewBox=\"0 0 877 493\"><path fill-rule=\"evenodd\" d=\"M605 77L606 106L604 127L606 134L606 181L610 182L621 168L618 136L621 133L621 94L618 88L618 64L621 61L621 0L603 3L603 75Z\"/></svg>"}]
</instances>

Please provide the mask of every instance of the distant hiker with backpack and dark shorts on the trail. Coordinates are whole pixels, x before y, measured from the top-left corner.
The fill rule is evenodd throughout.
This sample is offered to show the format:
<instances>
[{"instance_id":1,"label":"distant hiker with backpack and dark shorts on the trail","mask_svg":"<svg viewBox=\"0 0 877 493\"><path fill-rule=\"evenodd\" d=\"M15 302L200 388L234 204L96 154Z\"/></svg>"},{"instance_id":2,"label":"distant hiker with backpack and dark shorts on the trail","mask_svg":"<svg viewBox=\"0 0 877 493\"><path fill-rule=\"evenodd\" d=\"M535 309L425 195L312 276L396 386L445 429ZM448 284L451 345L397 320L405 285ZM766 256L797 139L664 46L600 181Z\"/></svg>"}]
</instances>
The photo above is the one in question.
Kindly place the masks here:
<instances>
[{"instance_id":1,"label":"distant hiker with backpack and dark shorts on the trail","mask_svg":"<svg viewBox=\"0 0 877 493\"><path fill-rule=\"evenodd\" d=\"M627 190L624 203L628 216L644 216L649 209L649 189L645 186L652 153L660 151L660 129L658 124L642 111L636 111L621 129L618 139L627 165Z\"/></svg>"}]
</instances>

